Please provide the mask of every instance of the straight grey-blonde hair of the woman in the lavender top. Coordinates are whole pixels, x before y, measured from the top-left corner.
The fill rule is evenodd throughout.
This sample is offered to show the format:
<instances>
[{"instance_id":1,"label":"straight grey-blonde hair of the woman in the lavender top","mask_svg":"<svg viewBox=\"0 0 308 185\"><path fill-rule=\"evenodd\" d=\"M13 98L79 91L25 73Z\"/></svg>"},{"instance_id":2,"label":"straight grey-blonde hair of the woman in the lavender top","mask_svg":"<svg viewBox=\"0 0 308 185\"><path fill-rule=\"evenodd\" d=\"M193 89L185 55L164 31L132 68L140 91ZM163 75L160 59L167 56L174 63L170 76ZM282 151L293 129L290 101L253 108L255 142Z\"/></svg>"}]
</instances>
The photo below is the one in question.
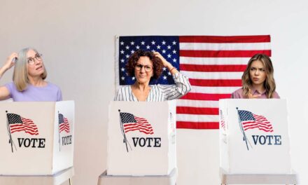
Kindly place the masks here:
<instances>
[{"instance_id":1,"label":"straight grey-blonde hair of the woman in the lavender top","mask_svg":"<svg viewBox=\"0 0 308 185\"><path fill-rule=\"evenodd\" d=\"M18 60L15 61L13 82L17 90L20 92L27 89L27 85L29 83L28 69L27 69L27 63L28 63L27 53L29 50L34 50L35 53L38 53L38 51L34 48L24 48L20 50L20 52L18 53ZM43 74L41 74L41 77L43 79L47 77L46 69L43 72Z\"/></svg>"}]
</instances>

